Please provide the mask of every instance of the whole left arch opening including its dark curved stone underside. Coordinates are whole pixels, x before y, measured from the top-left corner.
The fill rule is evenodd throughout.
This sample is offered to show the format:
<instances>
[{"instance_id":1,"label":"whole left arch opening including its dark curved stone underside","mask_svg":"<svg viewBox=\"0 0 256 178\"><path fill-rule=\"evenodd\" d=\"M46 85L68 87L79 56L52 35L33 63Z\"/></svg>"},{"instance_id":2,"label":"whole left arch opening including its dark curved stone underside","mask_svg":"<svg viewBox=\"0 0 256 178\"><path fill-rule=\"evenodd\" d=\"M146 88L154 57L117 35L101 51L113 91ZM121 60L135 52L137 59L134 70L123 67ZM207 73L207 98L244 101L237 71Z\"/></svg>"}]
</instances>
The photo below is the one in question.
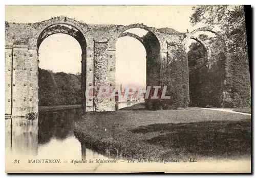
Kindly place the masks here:
<instances>
[{"instance_id":1,"label":"whole left arch opening including its dark curved stone underside","mask_svg":"<svg viewBox=\"0 0 256 178\"><path fill-rule=\"evenodd\" d=\"M86 39L70 24L53 24L37 39L38 106L82 105L86 90ZM40 111L40 110L39 110Z\"/></svg>"}]
</instances>

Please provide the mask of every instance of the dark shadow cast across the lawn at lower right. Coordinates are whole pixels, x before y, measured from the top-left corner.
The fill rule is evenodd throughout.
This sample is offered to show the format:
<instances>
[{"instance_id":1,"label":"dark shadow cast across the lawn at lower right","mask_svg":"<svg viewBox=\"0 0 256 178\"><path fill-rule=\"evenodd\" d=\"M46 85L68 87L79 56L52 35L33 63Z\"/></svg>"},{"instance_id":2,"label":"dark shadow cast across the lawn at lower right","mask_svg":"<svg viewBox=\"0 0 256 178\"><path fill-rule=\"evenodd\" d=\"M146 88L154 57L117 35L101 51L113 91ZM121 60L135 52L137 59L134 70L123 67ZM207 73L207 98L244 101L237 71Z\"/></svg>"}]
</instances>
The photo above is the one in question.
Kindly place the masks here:
<instances>
[{"instance_id":1,"label":"dark shadow cast across the lawn at lower right","mask_svg":"<svg viewBox=\"0 0 256 178\"><path fill-rule=\"evenodd\" d=\"M251 121L207 121L190 123L158 123L139 126L133 133L159 132L147 139L151 144L172 149L169 155L197 155L234 158L251 153Z\"/></svg>"}]
</instances>

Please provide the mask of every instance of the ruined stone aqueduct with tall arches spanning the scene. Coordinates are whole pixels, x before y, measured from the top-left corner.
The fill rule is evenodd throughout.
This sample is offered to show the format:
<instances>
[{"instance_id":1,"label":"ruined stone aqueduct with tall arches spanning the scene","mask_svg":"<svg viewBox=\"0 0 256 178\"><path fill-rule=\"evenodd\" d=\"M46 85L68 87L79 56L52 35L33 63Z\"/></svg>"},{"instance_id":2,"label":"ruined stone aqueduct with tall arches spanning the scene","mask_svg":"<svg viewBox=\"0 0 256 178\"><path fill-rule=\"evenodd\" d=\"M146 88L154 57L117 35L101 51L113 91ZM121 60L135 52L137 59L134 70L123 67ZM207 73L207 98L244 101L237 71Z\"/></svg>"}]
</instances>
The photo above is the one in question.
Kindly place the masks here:
<instances>
[{"instance_id":1,"label":"ruined stone aqueduct with tall arches spanning the scene","mask_svg":"<svg viewBox=\"0 0 256 178\"><path fill-rule=\"evenodd\" d=\"M129 26L87 24L65 16L36 23L6 22L5 28L6 115L12 116L38 112L38 48L45 38L56 33L71 35L81 45L83 93L92 85L115 86L116 40L130 36L138 39L146 49L147 85L169 86L173 95L169 105L187 107L188 62L184 44L188 38L199 41L193 36L196 32L210 31L202 28L180 33L169 28L147 27L143 23ZM144 29L148 33L138 37L125 32L132 28ZM223 45L225 48L224 41ZM83 98L82 106L86 111L114 111L115 100Z\"/></svg>"}]
</instances>

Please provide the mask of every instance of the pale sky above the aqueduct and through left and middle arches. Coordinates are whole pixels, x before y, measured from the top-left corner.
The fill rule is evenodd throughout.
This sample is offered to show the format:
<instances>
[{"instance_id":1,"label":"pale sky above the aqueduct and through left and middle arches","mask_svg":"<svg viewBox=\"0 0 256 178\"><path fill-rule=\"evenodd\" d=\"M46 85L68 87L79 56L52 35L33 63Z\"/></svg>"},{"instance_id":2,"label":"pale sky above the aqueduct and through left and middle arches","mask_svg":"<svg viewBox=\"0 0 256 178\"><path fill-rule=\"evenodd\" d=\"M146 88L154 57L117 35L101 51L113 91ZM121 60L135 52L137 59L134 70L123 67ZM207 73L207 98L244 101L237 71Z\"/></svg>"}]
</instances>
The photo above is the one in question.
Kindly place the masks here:
<instances>
[{"instance_id":1,"label":"pale sky above the aqueduct and through left and middle arches","mask_svg":"<svg viewBox=\"0 0 256 178\"><path fill-rule=\"evenodd\" d=\"M189 16L192 6L6 6L9 22L38 22L55 16L68 16L89 24L144 23L155 28L173 28L179 32L193 31ZM146 31L130 29L143 36ZM57 53L56 53L57 52ZM132 37L122 37L116 43L116 84L145 86L146 53L144 46ZM55 34L39 47L39 67L54 72L81 72L81 48L71 36Z\"/></svg>"}]
</instances>

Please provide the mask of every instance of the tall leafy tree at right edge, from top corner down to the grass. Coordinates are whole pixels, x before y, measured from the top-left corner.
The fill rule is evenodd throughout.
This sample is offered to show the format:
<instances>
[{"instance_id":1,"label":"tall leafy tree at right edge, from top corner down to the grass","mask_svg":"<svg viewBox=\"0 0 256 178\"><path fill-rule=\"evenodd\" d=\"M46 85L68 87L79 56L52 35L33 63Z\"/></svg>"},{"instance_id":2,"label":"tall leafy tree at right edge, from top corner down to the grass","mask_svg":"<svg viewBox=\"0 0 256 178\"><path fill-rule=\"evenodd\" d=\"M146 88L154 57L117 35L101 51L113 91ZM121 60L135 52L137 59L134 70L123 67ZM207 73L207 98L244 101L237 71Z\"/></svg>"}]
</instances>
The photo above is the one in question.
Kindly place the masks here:
<instances>
[{"instance_id":1,"label":"tall leafy tree at right edge, from top corner down to the grass","mask_svg":"<svg viewBox=\"0 0 256 178\"><path fill-rule=\"evenodd\" d=\"M218 32L226 43L226 88L227 107L250 105L250 74L247 52L245 15L243 6L196 6L190 16L195 25L203 22L207 26L219 27ZM236 97L234 97L236 96ZM240 98L239 104L236 100ZM225 103L225 102L224 102Z\"/></svg>"}]
</instances>

